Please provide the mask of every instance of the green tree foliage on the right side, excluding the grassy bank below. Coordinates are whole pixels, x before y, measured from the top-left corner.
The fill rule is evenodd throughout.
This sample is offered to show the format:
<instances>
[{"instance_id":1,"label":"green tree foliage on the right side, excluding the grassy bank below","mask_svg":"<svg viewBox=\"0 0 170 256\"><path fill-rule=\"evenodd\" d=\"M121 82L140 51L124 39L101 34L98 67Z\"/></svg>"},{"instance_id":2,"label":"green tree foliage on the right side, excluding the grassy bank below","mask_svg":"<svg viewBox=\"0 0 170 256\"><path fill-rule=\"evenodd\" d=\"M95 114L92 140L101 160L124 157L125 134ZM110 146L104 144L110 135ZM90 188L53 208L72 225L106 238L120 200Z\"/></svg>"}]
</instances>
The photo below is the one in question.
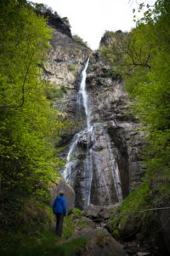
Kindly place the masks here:
<instances>
[{"instance_id":1,"label":"green tree foliage on the right side, excluding the grassy bank below","mask_svg":"<svg viewBox=\"0 0 170 256\"><path fill-rule=\"evenodd\" d=\"M143 4L139 6L139 11ZM115 32L104 55L122 70L134 113L145 125L145 158L151 172L169 165L170 3L156 1L130 33Z\"/></svg>"}]
</instances>

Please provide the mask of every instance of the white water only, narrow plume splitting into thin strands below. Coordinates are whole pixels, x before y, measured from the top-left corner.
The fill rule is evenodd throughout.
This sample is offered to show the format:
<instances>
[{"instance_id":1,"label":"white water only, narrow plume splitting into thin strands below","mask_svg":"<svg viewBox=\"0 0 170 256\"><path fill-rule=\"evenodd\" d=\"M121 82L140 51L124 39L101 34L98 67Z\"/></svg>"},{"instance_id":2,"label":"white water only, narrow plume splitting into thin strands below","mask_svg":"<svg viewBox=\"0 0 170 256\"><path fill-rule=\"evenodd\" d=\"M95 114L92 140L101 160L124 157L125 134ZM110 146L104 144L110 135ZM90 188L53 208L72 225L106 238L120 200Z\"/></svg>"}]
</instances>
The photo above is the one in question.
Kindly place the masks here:
<instances>
[{"instance_id":1,"label":"white water only, narrow plume splitting into thin strands below","mask_svg":"<svg viewBox=\"0 0 170 256\"><path fill-rule=\"evenodd\" d=\"M89 100L88 100L88 92L86 90L86 78L87 78L87 68L88 68L88 61L86 62L85 67L82 70L82 81L80 84L80 89L78 91L77 95L77 106L79 106L80 110L85 112L85 118L86 118L86 127L78 132L72 139L71 145L69 148L69 152L67 154L66 159L66 166L65 170L63 171L63 177L65 177L65 180L71 185L74 185L74 178L76 177L76 172L74 170L75 164L77 163L77 157L75 155L76 149L77 149L77 143L81 139L81 137L87 137L87 154L86 159L83 160L83 170L84 170L84 176L86 177L86 185L84 191L86 198L83 198L83 201L85 202L85 205L89 205L91 203L91 189L92 189L92 183L93 183L93 176L94 176L94 157L96 157L96 153L94 154L93 148L91 148L91 144L95 144L95 125L91 125L91 113L89 108ZM109 140L109 147L111 148L111 141L109 139L109 136L107 136L107 141ZM115 154L111 153L111 150L109 151L109 165L111 165L111 176L114 181L114 186L116 189L116 195L119 201L122 201L122 189L121 189L121 181L119 177L119 169L116 162L116 156ZM108 158L108 155L107 155ZM102 171L101 166L98 166L97 172L99 173L99 183L105 187L105 193L108 198L108 201L111 203L111 191L107 187L105 175Z\"/></svg>"}]
</instances>

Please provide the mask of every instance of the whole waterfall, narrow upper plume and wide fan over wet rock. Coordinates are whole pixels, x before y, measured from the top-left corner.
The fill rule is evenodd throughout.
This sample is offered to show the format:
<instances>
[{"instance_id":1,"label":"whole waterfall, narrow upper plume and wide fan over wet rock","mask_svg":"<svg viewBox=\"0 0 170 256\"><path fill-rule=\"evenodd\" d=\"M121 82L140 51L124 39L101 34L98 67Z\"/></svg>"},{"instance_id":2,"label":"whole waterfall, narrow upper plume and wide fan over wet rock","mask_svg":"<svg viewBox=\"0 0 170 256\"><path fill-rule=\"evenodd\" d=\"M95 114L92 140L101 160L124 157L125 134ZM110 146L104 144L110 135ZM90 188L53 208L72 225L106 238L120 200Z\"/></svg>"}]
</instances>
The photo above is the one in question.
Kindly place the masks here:
<instances>
[{"instance_id":1,"label":"whole waterfall, narrow upper plume and wide fan over wet rock","mask_svg":"<svg viewBox=\"0 0 170 256\"><path fill-rule=\"evenodd\" d=\"M101 124L91 125L86 77L88 61L82 70L77 110L84 113L86 127L72 139L63 176L76 192L76 206L86 207L122 201L121 179L116 151Z\"/></svg>"}]
</instances>

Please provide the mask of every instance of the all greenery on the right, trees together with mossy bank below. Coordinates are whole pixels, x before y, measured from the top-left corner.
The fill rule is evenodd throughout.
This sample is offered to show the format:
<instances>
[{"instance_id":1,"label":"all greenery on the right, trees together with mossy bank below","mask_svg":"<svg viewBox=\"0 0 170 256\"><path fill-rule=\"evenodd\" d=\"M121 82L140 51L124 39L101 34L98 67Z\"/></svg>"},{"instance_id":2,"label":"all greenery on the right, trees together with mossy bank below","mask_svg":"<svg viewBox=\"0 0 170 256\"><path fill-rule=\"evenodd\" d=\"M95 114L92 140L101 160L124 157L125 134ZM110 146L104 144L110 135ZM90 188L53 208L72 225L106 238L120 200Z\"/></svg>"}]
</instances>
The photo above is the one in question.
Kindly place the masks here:
<instances>
[{"instance_id":1,"label":"all greenery on the right, trees together with mossy bank below","mask_svg":"<svg viewBox=\"0 0 170 256\"><path fill-rule=\"evenodd\" d=\"M143 7L139 5L139 12ZM147 209L167 206L170 195L170 2L147 5L144 17L136 22L129 33L111 32L111 44L101 49L112 72L121 70L132 99L130 108L144 124L147 141L143 183L122 202L111 222L111 232L122 239L139 230L156 235L159 214Z\"/></svg>"}]
</instances>

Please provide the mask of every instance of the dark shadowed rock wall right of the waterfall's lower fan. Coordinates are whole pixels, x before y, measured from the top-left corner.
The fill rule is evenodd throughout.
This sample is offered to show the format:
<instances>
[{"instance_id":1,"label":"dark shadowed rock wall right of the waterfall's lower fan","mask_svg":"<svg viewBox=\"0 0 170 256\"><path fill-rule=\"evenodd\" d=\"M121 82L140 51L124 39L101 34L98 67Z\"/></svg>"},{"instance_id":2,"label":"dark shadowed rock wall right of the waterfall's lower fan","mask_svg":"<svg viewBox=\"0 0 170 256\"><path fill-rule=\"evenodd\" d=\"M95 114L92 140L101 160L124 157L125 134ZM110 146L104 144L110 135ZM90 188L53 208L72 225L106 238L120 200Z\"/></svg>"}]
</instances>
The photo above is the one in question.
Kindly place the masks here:
<instances>
[{"instance_id":1,"label":"dark shadowed rock wall right of the waterfall's lower fan","mask_svg":"<svg viewBox=\"0 0 170 256\"><path fill-rule=\"evenodd\" d=\"M119 122L115 127L108 123L108 132L122 154L122 168L128 169L128 177L122 177L124 189L133 190L141 183L144 175L142 149L144 148L144 132L135 122ZM122 172L121 172L122 173Z\"/></svg>"}]
</instances>

